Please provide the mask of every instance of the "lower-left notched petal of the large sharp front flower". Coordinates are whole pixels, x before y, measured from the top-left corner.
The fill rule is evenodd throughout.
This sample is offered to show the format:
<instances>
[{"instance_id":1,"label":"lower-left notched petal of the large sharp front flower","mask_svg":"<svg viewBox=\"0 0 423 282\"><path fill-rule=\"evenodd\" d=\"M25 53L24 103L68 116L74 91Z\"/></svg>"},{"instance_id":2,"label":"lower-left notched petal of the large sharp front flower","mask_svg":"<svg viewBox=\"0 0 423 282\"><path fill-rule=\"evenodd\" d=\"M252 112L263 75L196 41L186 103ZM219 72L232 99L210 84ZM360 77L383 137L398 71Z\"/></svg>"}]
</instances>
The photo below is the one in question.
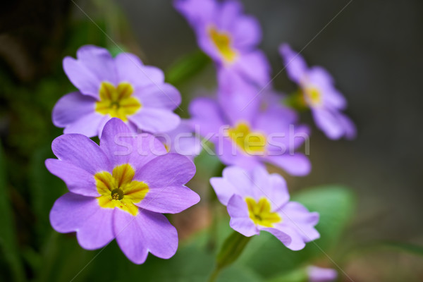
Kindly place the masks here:
<instances>
[{"instance_id":1,"label":"lower-left notched petal of the large sharp front flower","mask_svg":"<svg viewBox=\"0 0 423 282\"><path fill-rule=\"evenodd\" d=\"M112 228L114 209L102 209L97 199L71 192L61 196L50 212L50 222L60 233L76 231L78 243L95 250L114 239Z\"/></svg>"}]
</instances>

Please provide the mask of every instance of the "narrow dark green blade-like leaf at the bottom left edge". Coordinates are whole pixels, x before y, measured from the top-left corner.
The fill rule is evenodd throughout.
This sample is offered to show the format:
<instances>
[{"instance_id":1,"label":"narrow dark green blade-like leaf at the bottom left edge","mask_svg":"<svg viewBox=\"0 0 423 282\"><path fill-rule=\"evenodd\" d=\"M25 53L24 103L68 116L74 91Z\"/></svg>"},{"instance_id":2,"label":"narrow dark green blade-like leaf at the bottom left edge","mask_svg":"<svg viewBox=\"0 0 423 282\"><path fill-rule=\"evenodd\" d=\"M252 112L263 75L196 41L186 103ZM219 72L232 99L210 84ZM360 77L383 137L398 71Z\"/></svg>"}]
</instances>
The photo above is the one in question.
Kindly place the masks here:
<instances>
[{"instance_id":1,"label":"narrow dark green blade-like leaf at the bottom left edge","mask_svg":"<svg viewBox=\"0 0 423 282\"><path fill-rule=\"evenodd\" d=\"M13 213L7 190L5 175L6 164L4 160L3 147L0 144L0 247L10 265L13 281L24 281L24 269L18 252L18 242L16 241L16 228L13 222ZM6 279L5 279L6 280Z\"/></svg>"}]
</instances>

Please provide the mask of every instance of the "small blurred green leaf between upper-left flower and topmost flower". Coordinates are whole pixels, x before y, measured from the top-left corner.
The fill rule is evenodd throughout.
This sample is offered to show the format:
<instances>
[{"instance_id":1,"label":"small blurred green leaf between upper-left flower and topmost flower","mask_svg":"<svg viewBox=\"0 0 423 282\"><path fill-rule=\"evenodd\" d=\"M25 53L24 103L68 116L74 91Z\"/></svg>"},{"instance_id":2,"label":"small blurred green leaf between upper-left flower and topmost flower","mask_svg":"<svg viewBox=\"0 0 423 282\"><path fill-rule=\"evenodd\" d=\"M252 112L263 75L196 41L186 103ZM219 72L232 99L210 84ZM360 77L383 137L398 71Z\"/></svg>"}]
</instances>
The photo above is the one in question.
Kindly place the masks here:
<instances>
[{"instance_id":1,"label":"small blurred green leaf between upper-left flower and topmost flower","mask_svg":"<svg viewBox=\"0 0 423 282\"><path fill-rule=\"evenodd\" d=\"M210 63L210 58L202 51L197 50L184 56L166 71L166 82L180 85L196 73L202 71Z\"/></svg>"}]
</instances>

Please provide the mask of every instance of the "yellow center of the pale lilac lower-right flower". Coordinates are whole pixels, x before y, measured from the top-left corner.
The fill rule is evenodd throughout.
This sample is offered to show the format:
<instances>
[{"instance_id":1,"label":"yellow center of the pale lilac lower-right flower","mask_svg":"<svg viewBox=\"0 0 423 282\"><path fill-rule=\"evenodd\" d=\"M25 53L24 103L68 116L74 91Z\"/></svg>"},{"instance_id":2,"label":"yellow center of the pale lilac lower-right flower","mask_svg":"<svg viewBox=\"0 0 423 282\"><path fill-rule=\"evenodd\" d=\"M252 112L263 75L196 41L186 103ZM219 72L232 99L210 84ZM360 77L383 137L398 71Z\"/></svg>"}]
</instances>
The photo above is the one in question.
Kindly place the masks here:
<instances>
[{"instance_id":1,"label":"yellow center of the pale lilac lower-right flower","mask_svg":"<svg viewBox=\"0 0 423 282\"><path fill-rule=\"evenodd\" d=\"M247 202L250 219L256 225L273 227L274 223L282 222L277 212L271 212L271 204L265 197L260 198L259 202L252 197L246 197L245 202Z\"/></svg>"}]
</instances>

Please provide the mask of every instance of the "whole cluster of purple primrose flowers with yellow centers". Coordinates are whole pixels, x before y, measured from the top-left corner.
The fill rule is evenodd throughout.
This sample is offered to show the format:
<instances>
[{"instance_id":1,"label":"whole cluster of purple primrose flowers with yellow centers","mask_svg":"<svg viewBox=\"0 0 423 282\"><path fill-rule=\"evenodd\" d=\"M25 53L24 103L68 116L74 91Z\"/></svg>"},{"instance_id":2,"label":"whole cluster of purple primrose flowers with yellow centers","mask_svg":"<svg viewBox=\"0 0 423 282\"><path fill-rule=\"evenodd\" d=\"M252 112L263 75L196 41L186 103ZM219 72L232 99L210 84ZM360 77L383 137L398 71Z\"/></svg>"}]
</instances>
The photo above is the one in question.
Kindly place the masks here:
<instances>
[{"instance_id":1,"label":"whole cluster of purple primrose flowers with yellow centers","mask_svg":"<svg viewBox=\"0 0 423 282\"><path fill-rule=\"evenodd\" d=\"M227 207L231 228L246 237L266 231L290 250L301 250L319 238L319 214L291 202L285 179L269 174L266 165L306 176L310 129L283 103L288 95L271 85L269 63L257 49L259 23L243 13L238 1L174 4L214 61L216 94L194 99L191 118L181 121L173 113L180 93L164 82L159 68L145 66L133 54L113 57L94 46L81 47L77 59L66 57L64 71L78 91L63 96L53 109L53 123L65 134L53 141L57 159L47 159L46 166L69 192L51 209L51 226L75 232L88 250L116 239L136 264L145 262L148 252L173 256L178 235L163 214L200 201L185 186L195 174L192 159L201 151L192 135L196 128L228 166L210 183ZM341 114L345 99L331 76L323 68L307 68L287 44L280 51L299 87L293 95L312 111L317 127L331 139L354 137L352 121ZM90 139L94 136L99 145ZM300 152L303 145L306 154ZM334 275L317 268L309 272L310 277Z\"/></svg>"}]
</instances>

